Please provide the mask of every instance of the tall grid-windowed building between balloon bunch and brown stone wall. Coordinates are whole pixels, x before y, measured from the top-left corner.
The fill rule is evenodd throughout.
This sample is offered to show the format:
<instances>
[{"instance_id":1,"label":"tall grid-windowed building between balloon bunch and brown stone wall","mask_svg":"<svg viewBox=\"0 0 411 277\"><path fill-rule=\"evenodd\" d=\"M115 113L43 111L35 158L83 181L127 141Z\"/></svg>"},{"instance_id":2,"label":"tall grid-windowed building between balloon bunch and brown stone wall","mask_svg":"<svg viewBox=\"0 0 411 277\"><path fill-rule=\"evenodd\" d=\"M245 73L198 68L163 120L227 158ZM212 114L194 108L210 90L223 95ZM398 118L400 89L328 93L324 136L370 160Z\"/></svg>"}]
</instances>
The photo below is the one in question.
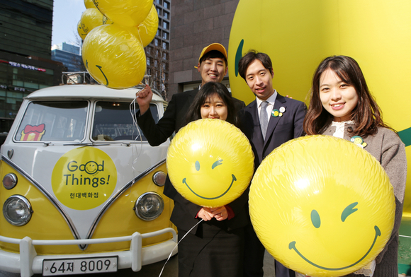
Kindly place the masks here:
<instances>
[{"instance_id":1,"label":"tall grid-windowed building between balloon bunch and brown stone wall","mask_svg":"<svg viewBox=\"0 0 411 277\"><path fill-rule=\"evenodd\" d=\"M150 76L146 83L162 93L164 99L169 93L170 5L171 0L154 0L159 28L154 40L145 47L147 75Z\"/></svg>"}]
</instances>

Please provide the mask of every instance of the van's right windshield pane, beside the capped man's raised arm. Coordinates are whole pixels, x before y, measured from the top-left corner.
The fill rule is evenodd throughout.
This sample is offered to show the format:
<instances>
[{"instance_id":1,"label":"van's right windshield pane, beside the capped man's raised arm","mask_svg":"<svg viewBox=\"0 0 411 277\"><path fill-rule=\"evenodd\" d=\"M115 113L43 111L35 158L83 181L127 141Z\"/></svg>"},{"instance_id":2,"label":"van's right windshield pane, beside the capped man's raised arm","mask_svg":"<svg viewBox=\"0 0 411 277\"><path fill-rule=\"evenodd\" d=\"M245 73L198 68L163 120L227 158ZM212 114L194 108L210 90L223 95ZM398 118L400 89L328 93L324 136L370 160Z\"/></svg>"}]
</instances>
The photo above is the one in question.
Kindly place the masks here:
<instances>
[{"instance_id":1,"label":"van's right windshield pane, beside the capped man's raised arm","mask_svg":"<svg viewBox=\"0 0 411 277\"><path fill-rule=\"evenodd\" d=\"M157 106L151 104L150 110L157 123L159 121ZM136 112L138 112L137 107ZM140 128L137 129L133 122L129 102L96 102L91 134L94 141L147 141Z\"/></svg>"}]
</instances>

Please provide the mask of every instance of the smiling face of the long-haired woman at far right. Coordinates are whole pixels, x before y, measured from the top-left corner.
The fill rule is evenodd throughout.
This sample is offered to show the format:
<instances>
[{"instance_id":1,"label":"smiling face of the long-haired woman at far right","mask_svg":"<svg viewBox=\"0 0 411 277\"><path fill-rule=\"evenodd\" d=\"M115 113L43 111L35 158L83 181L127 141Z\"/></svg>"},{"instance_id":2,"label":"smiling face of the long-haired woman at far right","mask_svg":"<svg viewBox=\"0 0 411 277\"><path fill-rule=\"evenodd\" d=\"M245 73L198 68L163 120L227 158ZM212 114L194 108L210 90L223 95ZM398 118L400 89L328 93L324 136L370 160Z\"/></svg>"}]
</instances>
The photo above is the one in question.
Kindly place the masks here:
<instances>
[{"instance_id":1,"label":"smiling face of the long-haired woman at far right","mask_svg":"<svg viewBox=\"0 0 411 277\"><path fill-rule=\"evenodd\" d=\"M343 122L351 119L359 97L353 86L344 83L332 69L327 69L320 77L320 100L322 107L334 116L334 121Z\"/></svg>"}]
</instances>

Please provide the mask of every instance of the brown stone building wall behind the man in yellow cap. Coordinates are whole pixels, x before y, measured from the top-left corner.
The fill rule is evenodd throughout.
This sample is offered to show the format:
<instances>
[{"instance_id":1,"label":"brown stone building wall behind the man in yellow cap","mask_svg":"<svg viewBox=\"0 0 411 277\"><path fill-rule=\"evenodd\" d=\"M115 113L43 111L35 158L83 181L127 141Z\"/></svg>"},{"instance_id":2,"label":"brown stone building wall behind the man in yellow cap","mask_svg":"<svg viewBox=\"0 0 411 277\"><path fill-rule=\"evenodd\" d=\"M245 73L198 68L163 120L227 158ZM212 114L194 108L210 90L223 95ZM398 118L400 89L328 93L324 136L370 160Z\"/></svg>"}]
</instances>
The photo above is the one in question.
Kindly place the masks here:
<instances>
[{"instance_id":1,"label":"brown stone building wall behind the man in yellow cap","mask_svg":"<svg viewBox=\"0 0 411 277\"><path fill-rule=\"evenodd\" d=\"M228 49L232 19L240 0L173 0L168 99L201 83L194 66L203 47L218 42ZM223 83L229 87L228 74Z\"/></svg>"}]
</instances>

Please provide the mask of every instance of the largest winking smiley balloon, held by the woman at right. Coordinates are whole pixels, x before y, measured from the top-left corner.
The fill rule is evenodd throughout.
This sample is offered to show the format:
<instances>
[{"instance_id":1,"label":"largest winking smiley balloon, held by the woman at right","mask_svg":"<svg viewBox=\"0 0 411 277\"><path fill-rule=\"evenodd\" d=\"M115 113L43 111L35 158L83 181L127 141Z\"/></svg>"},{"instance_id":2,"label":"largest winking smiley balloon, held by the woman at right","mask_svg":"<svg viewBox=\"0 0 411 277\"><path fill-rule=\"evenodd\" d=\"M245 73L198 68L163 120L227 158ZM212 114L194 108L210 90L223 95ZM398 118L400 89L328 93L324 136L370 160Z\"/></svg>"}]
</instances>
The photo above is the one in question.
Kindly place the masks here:
<instances>
[{"instance_id":1,"label":"largest winking smiley balloon, held by the woman at right","mask_svg":"<svg viewBox=\"0 0 411 277\"><path fill-rule=\"evenodd\" d=\"M263 160L249 213L275 259L308 276L343 276L376 258L395 218L383 167L354 143L305 136Z\"/></svg>"}]
</instances>

